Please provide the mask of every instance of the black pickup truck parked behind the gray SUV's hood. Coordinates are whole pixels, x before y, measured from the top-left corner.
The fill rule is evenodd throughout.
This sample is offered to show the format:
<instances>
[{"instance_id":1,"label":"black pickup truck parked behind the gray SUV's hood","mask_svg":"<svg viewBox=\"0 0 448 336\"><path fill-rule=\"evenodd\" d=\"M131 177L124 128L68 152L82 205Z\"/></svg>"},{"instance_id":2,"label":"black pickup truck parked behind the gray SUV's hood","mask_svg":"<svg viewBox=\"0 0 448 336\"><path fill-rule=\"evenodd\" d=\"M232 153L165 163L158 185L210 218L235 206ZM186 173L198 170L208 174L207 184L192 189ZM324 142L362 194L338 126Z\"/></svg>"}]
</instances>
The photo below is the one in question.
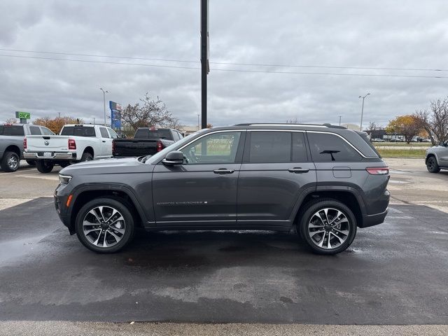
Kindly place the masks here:
<instances>
[{"instance_id":1,"label":"black pickup truck parked behind the gray SUV's hood","mask_svg":"<svg viewBox=\"0 0 448 336\"><path fill-rule=\"evenodd\" d=\"M181 132L169 128L141 127L133 139L113 139L112 154L116 158L153 155L182 138Z\"/></svg>"}]
</instances>

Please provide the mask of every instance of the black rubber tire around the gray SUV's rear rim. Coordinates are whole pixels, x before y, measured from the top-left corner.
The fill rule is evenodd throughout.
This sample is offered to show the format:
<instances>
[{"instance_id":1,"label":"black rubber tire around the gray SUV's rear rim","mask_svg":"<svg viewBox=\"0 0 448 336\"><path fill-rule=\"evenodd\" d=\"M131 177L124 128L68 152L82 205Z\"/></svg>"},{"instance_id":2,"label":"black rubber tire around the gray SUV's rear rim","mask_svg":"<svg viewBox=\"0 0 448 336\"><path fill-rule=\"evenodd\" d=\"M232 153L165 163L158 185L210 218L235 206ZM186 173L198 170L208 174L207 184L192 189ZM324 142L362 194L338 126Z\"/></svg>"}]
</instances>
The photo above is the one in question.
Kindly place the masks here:
<instances>
[{"instance_id":1,"label":"black rubber tire around the gray SUV's rear rim","mask_svg":"<svg viewBox=\"0 0 448 336\"><path fill-rule=\"evenodd\" d=\"M332 214L335 215L333 217L326 218L329 223L327 222L327 225L325 225L325 227L323 227L322 229L319 229L317 227L309 228L310 225L314 225L313 223L316 223L317 217L315 217L314 215L319 211L323 211L323 209L330 209L328 211L329 216L333 216ZM340 213L345 216L346 221L341 221L341 224L335 226L328 225L331 223L332 219L336 218L336 214L339 214L337 213L337 211L340 211ZM313 223L311 223L311 221L313 221ZM318 219L318 221L321 220ZM311 234L309 230L313 230ZM323 230L322 236L320 236L321 235L320 232L317 232L316 234L314 234L313 237L311 237L313 232L322 230ZM326 230L328 230L328 232ZM353 212L349 209L349 207L347 207L345 204L337 200L332 199L315 200L305 205L302 211L302 218L300 218L298 231L300 232L300 236L305 241L308 248L311 249L311 251L323 255L332 255L344 251L353 242L353 239L356 236L356 218L353 215ZM342 235L342 232L347 232L347 234ZM335 233L338 236L336 236ZM327 237L326 240L325 237ZM340 242L337 237L344 238L344 241ZM316 239L318 238L321 238L322 240L316 241ZM330 240L330 242L328 242L328 240ZM320 243L321 241L327 247L318 246L318 243ZM336 244L339 242L339 245L336 245L335 248L332 248L331 246L332 244L335 244L335 242ZM330 247L328 247L328 245Z\"/></svg>"}]
</instances>

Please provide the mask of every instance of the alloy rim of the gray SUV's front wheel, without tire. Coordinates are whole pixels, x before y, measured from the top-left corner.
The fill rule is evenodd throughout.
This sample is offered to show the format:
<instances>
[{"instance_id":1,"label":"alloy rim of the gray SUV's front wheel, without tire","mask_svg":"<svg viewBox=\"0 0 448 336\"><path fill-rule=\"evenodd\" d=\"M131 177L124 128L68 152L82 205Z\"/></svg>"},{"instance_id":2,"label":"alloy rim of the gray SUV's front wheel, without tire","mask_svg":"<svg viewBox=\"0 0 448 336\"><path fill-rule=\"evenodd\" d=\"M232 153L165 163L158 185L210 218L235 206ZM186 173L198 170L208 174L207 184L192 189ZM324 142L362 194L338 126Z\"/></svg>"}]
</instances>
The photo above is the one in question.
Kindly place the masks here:
<instances>
[{"instance_id":1,"label":"alloy rim of the gray SUV's front wheel, without tire","mask_svg":"<svg viewBox=\"0 0 448 336\"><path fill-rule=\"evenodd\" d=\"M94 207L84 216L83 234L90 244L106 248L123 239L126 223L120 211L109 206Z\"/></svg>"}]
</instances>

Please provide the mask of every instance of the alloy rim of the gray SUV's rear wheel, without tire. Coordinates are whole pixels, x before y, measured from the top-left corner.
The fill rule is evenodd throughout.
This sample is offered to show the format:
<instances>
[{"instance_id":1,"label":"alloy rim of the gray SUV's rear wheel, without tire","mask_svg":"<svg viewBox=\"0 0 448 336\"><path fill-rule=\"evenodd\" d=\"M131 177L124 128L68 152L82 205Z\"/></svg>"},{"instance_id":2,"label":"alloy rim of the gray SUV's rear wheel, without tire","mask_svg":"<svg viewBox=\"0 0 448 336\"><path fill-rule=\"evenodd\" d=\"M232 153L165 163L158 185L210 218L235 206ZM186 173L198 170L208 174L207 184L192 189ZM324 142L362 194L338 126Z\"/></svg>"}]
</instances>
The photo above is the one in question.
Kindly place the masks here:
<instances>
[{"instance_id":1,"label":"alloy rim of the gray SUV's rear wheel, without tire","mask_svg":"<svg viewBox=\"0 0 448 336\"><path fill-rule=\"evenodd\" d=\"M309 220L308 235L319 248L337 248L344 244L350 235L349 219L338 209L319 209Z\"/></svg>"}]
</instances>

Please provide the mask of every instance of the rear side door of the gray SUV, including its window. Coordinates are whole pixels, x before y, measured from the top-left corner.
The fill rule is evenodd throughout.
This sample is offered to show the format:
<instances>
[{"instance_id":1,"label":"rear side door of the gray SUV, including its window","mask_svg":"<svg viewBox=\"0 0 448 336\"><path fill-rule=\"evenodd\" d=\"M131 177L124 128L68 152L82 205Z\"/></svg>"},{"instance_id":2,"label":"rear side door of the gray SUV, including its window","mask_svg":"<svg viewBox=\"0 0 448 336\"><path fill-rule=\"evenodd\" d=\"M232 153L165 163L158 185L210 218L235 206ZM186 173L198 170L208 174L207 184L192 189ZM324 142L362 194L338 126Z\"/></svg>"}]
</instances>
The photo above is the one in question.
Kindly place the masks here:
<instances>
[{"instance_id":1,"label":"rear side door of the gray SUV, including its window","mask_svg":"<svg viewBox=\"0 0 448 336\"><path fill-rule=\"evenodd\" d=\"M239 172L239 225L290 225L304 190L316 188L308 156L302 132L250 132Z\"/></svg>"}]
</instances>

